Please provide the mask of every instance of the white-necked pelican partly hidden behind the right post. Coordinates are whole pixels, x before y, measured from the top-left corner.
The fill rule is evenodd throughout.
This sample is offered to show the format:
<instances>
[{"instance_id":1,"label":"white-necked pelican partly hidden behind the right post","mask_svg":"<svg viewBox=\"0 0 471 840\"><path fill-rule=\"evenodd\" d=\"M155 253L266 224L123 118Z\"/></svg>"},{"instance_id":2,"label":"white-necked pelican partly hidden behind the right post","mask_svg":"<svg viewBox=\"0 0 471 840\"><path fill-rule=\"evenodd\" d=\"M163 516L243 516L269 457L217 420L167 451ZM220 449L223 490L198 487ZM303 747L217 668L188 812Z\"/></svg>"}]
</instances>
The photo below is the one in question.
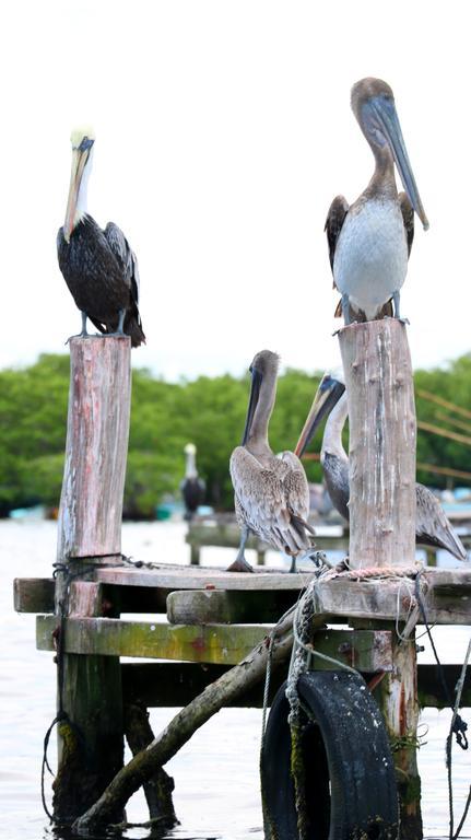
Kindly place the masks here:
<instances>
[{"instance_id":1,"label":"white-necked pelican partly hidden behind the right post","mask_svg":"<svg viewBox=\"0 0 471 840\"><path fill-rule=\"evenodd\" d=\"M335 378L330 374L325 374L295 453L302 457L322 418L330 412L323 431L320 462L332 504L345 520L349 520L349 458L342 445L342 430L348 417L346 394L344 392L345 386L340 376ZM417 545L444 548L458 560L467 560L464 546L451 523L448 522L435 495L428 488L420 483L415 485L415 541Z\"/></svg>"}]
</instances>

